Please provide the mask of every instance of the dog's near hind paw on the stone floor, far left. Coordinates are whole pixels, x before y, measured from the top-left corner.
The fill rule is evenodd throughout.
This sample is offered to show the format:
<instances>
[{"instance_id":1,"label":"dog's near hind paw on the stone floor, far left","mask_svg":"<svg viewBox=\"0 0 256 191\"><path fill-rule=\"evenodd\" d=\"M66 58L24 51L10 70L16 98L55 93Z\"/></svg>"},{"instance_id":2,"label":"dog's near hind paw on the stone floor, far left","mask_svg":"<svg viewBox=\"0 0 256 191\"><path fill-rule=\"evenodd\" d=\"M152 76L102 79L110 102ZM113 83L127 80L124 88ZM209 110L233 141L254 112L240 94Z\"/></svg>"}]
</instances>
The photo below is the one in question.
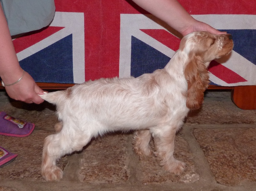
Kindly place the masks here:
<instances>
[{"instance_id":1,"label":"dog's near hind paw on the stone floor, far left","mask_svg":"<svg viewBox=\"0 0 256 191\"><path fill-rule=\"evenodd\" d=\"M47 181L58 181L62 179L63 172L62 170L57 166L52 166L49 168L45 168L42 170L42 176Z\"/></svg>"}]
</instances>

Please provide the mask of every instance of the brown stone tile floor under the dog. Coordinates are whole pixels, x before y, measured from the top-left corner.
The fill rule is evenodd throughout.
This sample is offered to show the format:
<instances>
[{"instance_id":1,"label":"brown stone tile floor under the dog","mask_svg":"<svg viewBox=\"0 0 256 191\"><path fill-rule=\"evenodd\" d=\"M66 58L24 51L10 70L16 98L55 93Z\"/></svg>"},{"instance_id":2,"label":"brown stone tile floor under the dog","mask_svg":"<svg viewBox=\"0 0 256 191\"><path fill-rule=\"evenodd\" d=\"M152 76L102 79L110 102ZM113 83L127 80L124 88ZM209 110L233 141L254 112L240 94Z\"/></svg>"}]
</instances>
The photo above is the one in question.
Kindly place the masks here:
<instances>
[{"instance_id":1,"label":"brown stone tile floor under the dog","mask_svg":"<svg viewBox=\"0 0 256 191\"><path fill-rule=\"evenodd\" d=\"M98 137L81 152L62 157L63 179L46 182L41 154L44 138L54 133L55 107L13 101L2 91L0 111L36 125L27 137L0 135L0 146L18 154L0 168L0 191L256 190L256 110L237 108L230 92L206 92L203 107L189 113L177 133L175 157L186 163L180 176L165 172L154 156L139 160L131 132Z\"/></svg>"}]
</instances>

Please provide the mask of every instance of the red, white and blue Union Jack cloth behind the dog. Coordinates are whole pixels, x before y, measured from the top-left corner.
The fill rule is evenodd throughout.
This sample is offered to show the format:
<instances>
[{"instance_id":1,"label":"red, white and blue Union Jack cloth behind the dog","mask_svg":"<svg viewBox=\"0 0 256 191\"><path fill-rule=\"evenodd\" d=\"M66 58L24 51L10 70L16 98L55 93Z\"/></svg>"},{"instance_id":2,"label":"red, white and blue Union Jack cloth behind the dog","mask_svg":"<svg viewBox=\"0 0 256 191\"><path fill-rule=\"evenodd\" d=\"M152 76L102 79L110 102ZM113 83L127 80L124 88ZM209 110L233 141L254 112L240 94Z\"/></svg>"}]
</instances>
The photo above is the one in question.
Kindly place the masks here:
<instances>
[{"instance_id":1,"label":"red, white and blue Union Jack cloth behind the dog","mask_svg":"<svg viewBox=\"0 0 256 191\"><path fill-rule=\"evenodd\" d=\"M233 36L231 56L210 64L211 83L256 85L256 2L179 2L195 19ZM130 0L55 5L49 27L13 40L21 67L37 82L137 77L163 68L179 48L172 29Z\"/></svg>"}]
</instances>

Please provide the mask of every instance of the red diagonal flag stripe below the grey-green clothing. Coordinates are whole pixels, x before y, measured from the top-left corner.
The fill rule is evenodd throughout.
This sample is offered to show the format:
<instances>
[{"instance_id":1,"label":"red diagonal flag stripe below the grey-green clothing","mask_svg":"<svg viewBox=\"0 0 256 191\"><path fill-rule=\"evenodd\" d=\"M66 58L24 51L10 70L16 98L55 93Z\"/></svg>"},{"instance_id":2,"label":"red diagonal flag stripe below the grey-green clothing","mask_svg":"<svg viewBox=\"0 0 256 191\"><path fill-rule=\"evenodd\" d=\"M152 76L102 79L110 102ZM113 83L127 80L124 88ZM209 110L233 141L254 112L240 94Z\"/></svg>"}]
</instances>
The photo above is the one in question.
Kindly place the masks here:
<instances>
[{"instance_id":1,"label":"red diagonal flag stripe below the grey-green clothing","mask_svg":"<svg viewBox=\"0 0 256 191\"><path fill-rule=\"evenodd\" d=\"M16 53L19 53L20 51L27 49L33 44L42 41L46 37L58 32L62 28L65 27L46 27L37 31L26 33L25 36L14 39L12 42Z\"/></svg>"}]
</instances>

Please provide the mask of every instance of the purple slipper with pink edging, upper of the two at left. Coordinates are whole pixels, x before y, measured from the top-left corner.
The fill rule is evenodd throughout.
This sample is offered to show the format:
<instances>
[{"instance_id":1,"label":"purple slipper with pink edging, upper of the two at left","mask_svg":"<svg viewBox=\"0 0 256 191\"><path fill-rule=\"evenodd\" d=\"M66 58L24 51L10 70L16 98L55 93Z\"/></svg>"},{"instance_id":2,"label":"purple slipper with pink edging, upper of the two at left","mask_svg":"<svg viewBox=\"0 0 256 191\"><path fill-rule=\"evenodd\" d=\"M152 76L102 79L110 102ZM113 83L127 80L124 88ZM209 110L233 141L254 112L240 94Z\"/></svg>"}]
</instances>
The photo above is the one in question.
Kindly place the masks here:
<instances>
[{"instance_id":1,"label":"purple slipper with pink edging, upper of the two at left","mask_svg":"<svg viewBox=\"0 0 256 191\"><path fill-rule=\"evenodd\" d=\"M25 137L33 132L35 124L16 119L5 112L0 112L0 134Z\"/></svg>"}]
</instances>

